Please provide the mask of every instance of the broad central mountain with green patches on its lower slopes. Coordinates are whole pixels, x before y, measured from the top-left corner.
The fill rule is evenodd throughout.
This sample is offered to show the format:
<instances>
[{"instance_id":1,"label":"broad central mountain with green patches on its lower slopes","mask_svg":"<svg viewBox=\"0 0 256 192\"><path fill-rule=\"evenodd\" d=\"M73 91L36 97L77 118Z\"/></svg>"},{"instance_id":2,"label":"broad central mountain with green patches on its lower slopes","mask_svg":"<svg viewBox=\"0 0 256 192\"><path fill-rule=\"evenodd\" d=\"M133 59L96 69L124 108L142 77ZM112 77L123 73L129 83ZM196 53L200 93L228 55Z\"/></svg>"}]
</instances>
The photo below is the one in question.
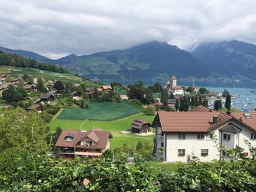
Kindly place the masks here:
<instances>
[{"instance_id":1,"label":"broad central mountain with green patches on its lower slopes","mask_svg":"<svg viewBox=\"0 0 256 192\"><path fill-rule=\"evenodd\" d=\"M166 80L178 77L203 77L210 74L190 53L165 42L148 42L127 50L69 55L56 60L70 72L89 78L109 80Z\"/></svg>"}]
</instances>

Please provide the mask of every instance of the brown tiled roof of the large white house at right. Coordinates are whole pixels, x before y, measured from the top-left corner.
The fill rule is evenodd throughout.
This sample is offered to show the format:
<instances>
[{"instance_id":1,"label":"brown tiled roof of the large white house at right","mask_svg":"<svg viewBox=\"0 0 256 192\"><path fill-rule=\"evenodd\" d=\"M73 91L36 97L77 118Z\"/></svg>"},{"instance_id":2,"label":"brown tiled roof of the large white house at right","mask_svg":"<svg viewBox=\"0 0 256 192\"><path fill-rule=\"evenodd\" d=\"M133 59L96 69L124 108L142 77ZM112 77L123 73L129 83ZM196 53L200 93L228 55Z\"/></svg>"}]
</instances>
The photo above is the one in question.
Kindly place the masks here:
<instances>
[{"instance_id":1,"label":"brown tiled roof of the large white house at right","mask_svg":"<svg viewBox=\"0 0 256 192\"><path fill-rule=\"evenodd\" d=\"M191 112L158 112L152 125L157 126L159 121L164 132L207 132L230 120L236 120L252 131L256 131L256 112L249 112L252 118L248 119L244 112L233 112L232 115L227 115L224 112L209 110L207 107L195 109ZM217 117L217 123L213 123L214 116Z\"/></svg>"}]
</instances>

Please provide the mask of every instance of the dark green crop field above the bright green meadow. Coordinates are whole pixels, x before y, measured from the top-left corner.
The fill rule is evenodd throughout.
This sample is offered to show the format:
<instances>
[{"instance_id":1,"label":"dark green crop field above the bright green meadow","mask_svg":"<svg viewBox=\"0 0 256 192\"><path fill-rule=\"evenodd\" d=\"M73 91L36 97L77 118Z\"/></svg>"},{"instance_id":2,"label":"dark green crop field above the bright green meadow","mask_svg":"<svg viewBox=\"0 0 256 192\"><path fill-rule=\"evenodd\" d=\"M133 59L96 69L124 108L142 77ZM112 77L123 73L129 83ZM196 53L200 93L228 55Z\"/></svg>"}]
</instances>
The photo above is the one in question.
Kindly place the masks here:
<instances>
[{"instance_id":1,"label":"dark green crop field above the bright green meadow","mask_svg":"<svg viewBox=\"0 0 256 192\"><path fill-rule=\"evenodd\" d=\"M127 103L88 102L87 104L89 107L86 109L64 108L58 119L116 120L141 112L137 107Z\"/></svg>"}]
</instances>

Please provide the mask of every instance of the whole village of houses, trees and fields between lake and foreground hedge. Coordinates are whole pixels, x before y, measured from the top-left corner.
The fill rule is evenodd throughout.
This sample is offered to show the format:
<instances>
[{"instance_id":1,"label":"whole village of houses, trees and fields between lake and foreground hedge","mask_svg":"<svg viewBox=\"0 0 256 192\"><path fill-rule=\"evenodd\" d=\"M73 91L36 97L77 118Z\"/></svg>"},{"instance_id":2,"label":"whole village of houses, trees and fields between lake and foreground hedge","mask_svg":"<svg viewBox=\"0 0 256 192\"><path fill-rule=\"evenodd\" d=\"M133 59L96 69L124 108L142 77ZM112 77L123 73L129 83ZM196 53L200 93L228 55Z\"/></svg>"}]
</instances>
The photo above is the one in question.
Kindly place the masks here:
<instances>
[{"instance_id":1,"label":"whole village of houses, trees and fields between lake and foreground hedge","mask_svg":"<svg viewBox=\"0 0 256 192\"><path fill-rule=\"evenodd\" d=\"M256 145L256 127L252 123L256 119L255 112L231 112L230 107L227 107L227 111L219 111L226 104L215 109L214 105L208 105L208 100L223 100L223 93L199 89L195 83L188 88L178 86L174 75L160 89L160 93L154 93L158 90L151 91L151 96L148 96L148 90L157 89L159 84L156 83L155 87L146 89L141 99L138 91L145 88L140 83L127 88L118 83L85 87L80 83L42 80L37 77L31 79L26 74L20 79L0 74L2 99L5 95L10 99L13 92L10 89L20 91L21 86L26 91L26 98L31 99L26 104L20 104L21 101L15 101L14 104L12 101L12 105L41 115L52 130L56 130L56 124L61 128L55 151L51 152L53 156L75 158L76 155L86 155L97 158L110 149L124 150L132 155L135 153L132 147L138 147L141 141L145 141L144 145L151 146L148 147L149 152L146 155L154 155L160 161L186 162L187 156L191 155L206 162L227 158L225 152L218 155L217 148L213 147L213 137L218 139L221 147L239 148L244 150L246 156L252 156L243 139ZM189 98L188 101L186 98ZM132 102L133 105L130 105ZM141 104L137 104L138 102ZM135 103L140 105L140 110L135 109ZM118 109L118 104L124 104L125 107ZM121 110L119 116L112 115L114 111L110 110L111 107L113 110ZM125 109L129 110L125 112ZM126 117L130 121L123 123L122 119ZM91 121L91 127L84 124L83 128L86 129L72 129L74 120L86 119L94 120ZM114 125L111 121L115 119L120 122L111 127L111 124ZM195 120L199 120L196 126ZM124 137L129 139L124 140Z\"/></svg>"}]
</instances>

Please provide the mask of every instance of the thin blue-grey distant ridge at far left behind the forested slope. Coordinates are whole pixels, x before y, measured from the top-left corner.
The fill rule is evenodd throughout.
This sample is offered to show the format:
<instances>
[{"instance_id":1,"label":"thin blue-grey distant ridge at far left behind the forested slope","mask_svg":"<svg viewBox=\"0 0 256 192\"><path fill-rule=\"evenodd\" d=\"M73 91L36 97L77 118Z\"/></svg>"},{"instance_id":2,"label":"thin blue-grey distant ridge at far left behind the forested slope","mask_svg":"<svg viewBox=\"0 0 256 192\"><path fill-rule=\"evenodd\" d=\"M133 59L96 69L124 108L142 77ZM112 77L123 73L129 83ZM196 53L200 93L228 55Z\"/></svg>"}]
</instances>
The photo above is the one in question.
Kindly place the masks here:
<instances>
[{"instance_id":1,"label":"thin blue-grey distant ridge at far left behind the forested slope","mask_svg":"<svg viewBox=\"0 0 256 192\"><path fill-rule=\"evenodd\" d=\"M31 58L31 59L41 61L44 63L51 63L53 61L50 58L44 57L42 55L39 55L39 54L31 52L31 51L27 51L27 50L12 50L12 49L8 49L5 47L0 47L0 51L2 51L4 53L14 53L14 54L21 55L23 57Z\"/></svg>"}]
</instances>

